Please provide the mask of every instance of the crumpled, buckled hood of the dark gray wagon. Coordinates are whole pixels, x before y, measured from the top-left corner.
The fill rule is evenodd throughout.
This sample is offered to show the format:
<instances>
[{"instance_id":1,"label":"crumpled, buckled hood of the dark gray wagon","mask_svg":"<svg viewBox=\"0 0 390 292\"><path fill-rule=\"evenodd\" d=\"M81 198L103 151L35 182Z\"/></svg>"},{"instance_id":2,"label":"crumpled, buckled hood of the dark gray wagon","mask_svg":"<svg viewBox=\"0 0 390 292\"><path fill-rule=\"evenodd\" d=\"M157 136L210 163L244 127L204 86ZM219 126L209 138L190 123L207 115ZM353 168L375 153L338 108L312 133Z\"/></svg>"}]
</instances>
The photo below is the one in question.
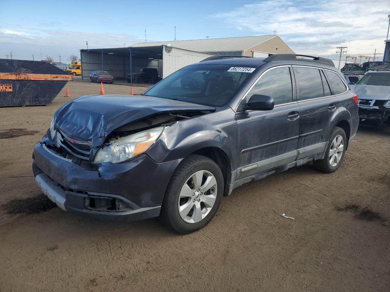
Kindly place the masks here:
<instances>
[{"instance_id":1,"label":"crumpled, buckled hood of the dark gray wagon","mask_svg":"<svg viewBox=\"0 0 390 292\"><path fill-rule=\"evenodd\" d=\"M152 114L214 110L215 107L142 95L92 95L64 104L54 114L54 120L72 138L92 140L91 147L96 147L112 130Z\"/></svg>"}]
</instances>

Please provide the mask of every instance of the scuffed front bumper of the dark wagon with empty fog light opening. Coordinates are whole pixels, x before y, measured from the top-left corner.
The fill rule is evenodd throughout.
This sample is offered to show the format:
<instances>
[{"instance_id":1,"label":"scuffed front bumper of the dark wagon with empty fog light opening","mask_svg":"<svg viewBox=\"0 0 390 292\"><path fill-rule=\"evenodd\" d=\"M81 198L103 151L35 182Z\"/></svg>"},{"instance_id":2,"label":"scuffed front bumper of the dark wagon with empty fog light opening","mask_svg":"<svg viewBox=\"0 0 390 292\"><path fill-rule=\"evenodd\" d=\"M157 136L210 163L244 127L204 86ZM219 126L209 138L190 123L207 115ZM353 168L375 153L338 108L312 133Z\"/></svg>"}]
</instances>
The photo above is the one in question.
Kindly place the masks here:
<instances>
[{"instance_id":1,"label":"scuffed front bumper of the dark wagon with empty fog light opening","mask_svg":"<svg viewBox=\"0 0 390 292\"><path fill-rule=\"evenodd\" d=\"M114 222L158 216L170 177L179 164L179 160L159 164L141 155L122 164L80 166L55 155L41 142L35 145L33 158L37 185L57 206L87 218ZM93 209L91 199L119 202L126 208Z\"/></svg>"}]
</instances>

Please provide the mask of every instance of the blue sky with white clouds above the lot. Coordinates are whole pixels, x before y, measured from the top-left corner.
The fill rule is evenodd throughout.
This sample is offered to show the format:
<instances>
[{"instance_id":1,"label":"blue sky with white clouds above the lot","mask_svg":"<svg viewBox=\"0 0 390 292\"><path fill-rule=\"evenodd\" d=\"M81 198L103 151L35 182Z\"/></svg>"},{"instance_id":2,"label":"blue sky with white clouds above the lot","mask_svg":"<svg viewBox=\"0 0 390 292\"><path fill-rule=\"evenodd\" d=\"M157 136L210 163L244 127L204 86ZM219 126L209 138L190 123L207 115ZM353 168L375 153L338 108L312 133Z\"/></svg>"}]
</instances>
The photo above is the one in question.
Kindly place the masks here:
<instances>
[{"instance_id":1,"label":"blue sky with white clouds above the lot","mask_svg":"<svg viewBox=\"0 0 390 292\"><path fill-rule=\"evenodd\" d=\"M98 3L98 4L97 4ZM338 60L382 60L390 0L269 1L5 1L0 0L0 58L51 56L69 63L79 49L137 42L272 35L295 53ZM12 11L12 13L7 13ZM16 13L17 11L17 13ZM10 56L8 56L10 58ZM359 60L359 58L358 58Z\"/></svg>"}]
</instances>

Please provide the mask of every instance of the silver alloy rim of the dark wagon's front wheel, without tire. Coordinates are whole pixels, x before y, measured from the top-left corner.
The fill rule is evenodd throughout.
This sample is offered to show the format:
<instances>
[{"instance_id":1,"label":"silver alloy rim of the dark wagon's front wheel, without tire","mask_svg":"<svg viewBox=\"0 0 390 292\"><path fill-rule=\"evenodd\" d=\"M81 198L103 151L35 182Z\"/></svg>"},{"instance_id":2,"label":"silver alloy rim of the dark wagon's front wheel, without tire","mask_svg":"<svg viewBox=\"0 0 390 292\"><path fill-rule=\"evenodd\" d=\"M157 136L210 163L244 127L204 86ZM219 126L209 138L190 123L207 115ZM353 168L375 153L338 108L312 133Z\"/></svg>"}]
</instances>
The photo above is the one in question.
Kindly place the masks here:
<instances>
[{"instance_id":1,"label":"silver alloy rim of the dark wagon's front wheel, without tire","mask_svg":"<svg viewBox=\"0 0 390 292\"><path fill-rule=\"evenodd\" d=\"M213 208L217 196L217 181L209 171L197 171L181 188L177 208L187 223L197 223Z\"/></svg>"}]
</instances>

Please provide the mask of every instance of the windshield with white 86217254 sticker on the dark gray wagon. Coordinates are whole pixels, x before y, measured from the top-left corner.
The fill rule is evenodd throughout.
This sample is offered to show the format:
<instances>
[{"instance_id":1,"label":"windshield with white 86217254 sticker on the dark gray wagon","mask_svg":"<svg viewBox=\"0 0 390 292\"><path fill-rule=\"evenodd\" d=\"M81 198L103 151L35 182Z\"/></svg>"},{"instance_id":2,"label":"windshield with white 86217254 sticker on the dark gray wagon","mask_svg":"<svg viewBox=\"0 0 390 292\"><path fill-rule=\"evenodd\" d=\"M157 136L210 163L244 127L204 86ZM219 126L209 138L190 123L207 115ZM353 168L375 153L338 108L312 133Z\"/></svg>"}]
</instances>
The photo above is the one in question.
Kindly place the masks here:
<instances>
[{"instance_id":1,"label":"windshield with white 86217254 sticker on the dark gray wagon","mask_svg":"<svg viewBox=\"0 0 390 292\"><path fill-rule=\"evenodd\" d=\"M223 106L255 68L231 65L192 65L161 80L144 95L206 106Z\"/></svg>"}]
</instances>

